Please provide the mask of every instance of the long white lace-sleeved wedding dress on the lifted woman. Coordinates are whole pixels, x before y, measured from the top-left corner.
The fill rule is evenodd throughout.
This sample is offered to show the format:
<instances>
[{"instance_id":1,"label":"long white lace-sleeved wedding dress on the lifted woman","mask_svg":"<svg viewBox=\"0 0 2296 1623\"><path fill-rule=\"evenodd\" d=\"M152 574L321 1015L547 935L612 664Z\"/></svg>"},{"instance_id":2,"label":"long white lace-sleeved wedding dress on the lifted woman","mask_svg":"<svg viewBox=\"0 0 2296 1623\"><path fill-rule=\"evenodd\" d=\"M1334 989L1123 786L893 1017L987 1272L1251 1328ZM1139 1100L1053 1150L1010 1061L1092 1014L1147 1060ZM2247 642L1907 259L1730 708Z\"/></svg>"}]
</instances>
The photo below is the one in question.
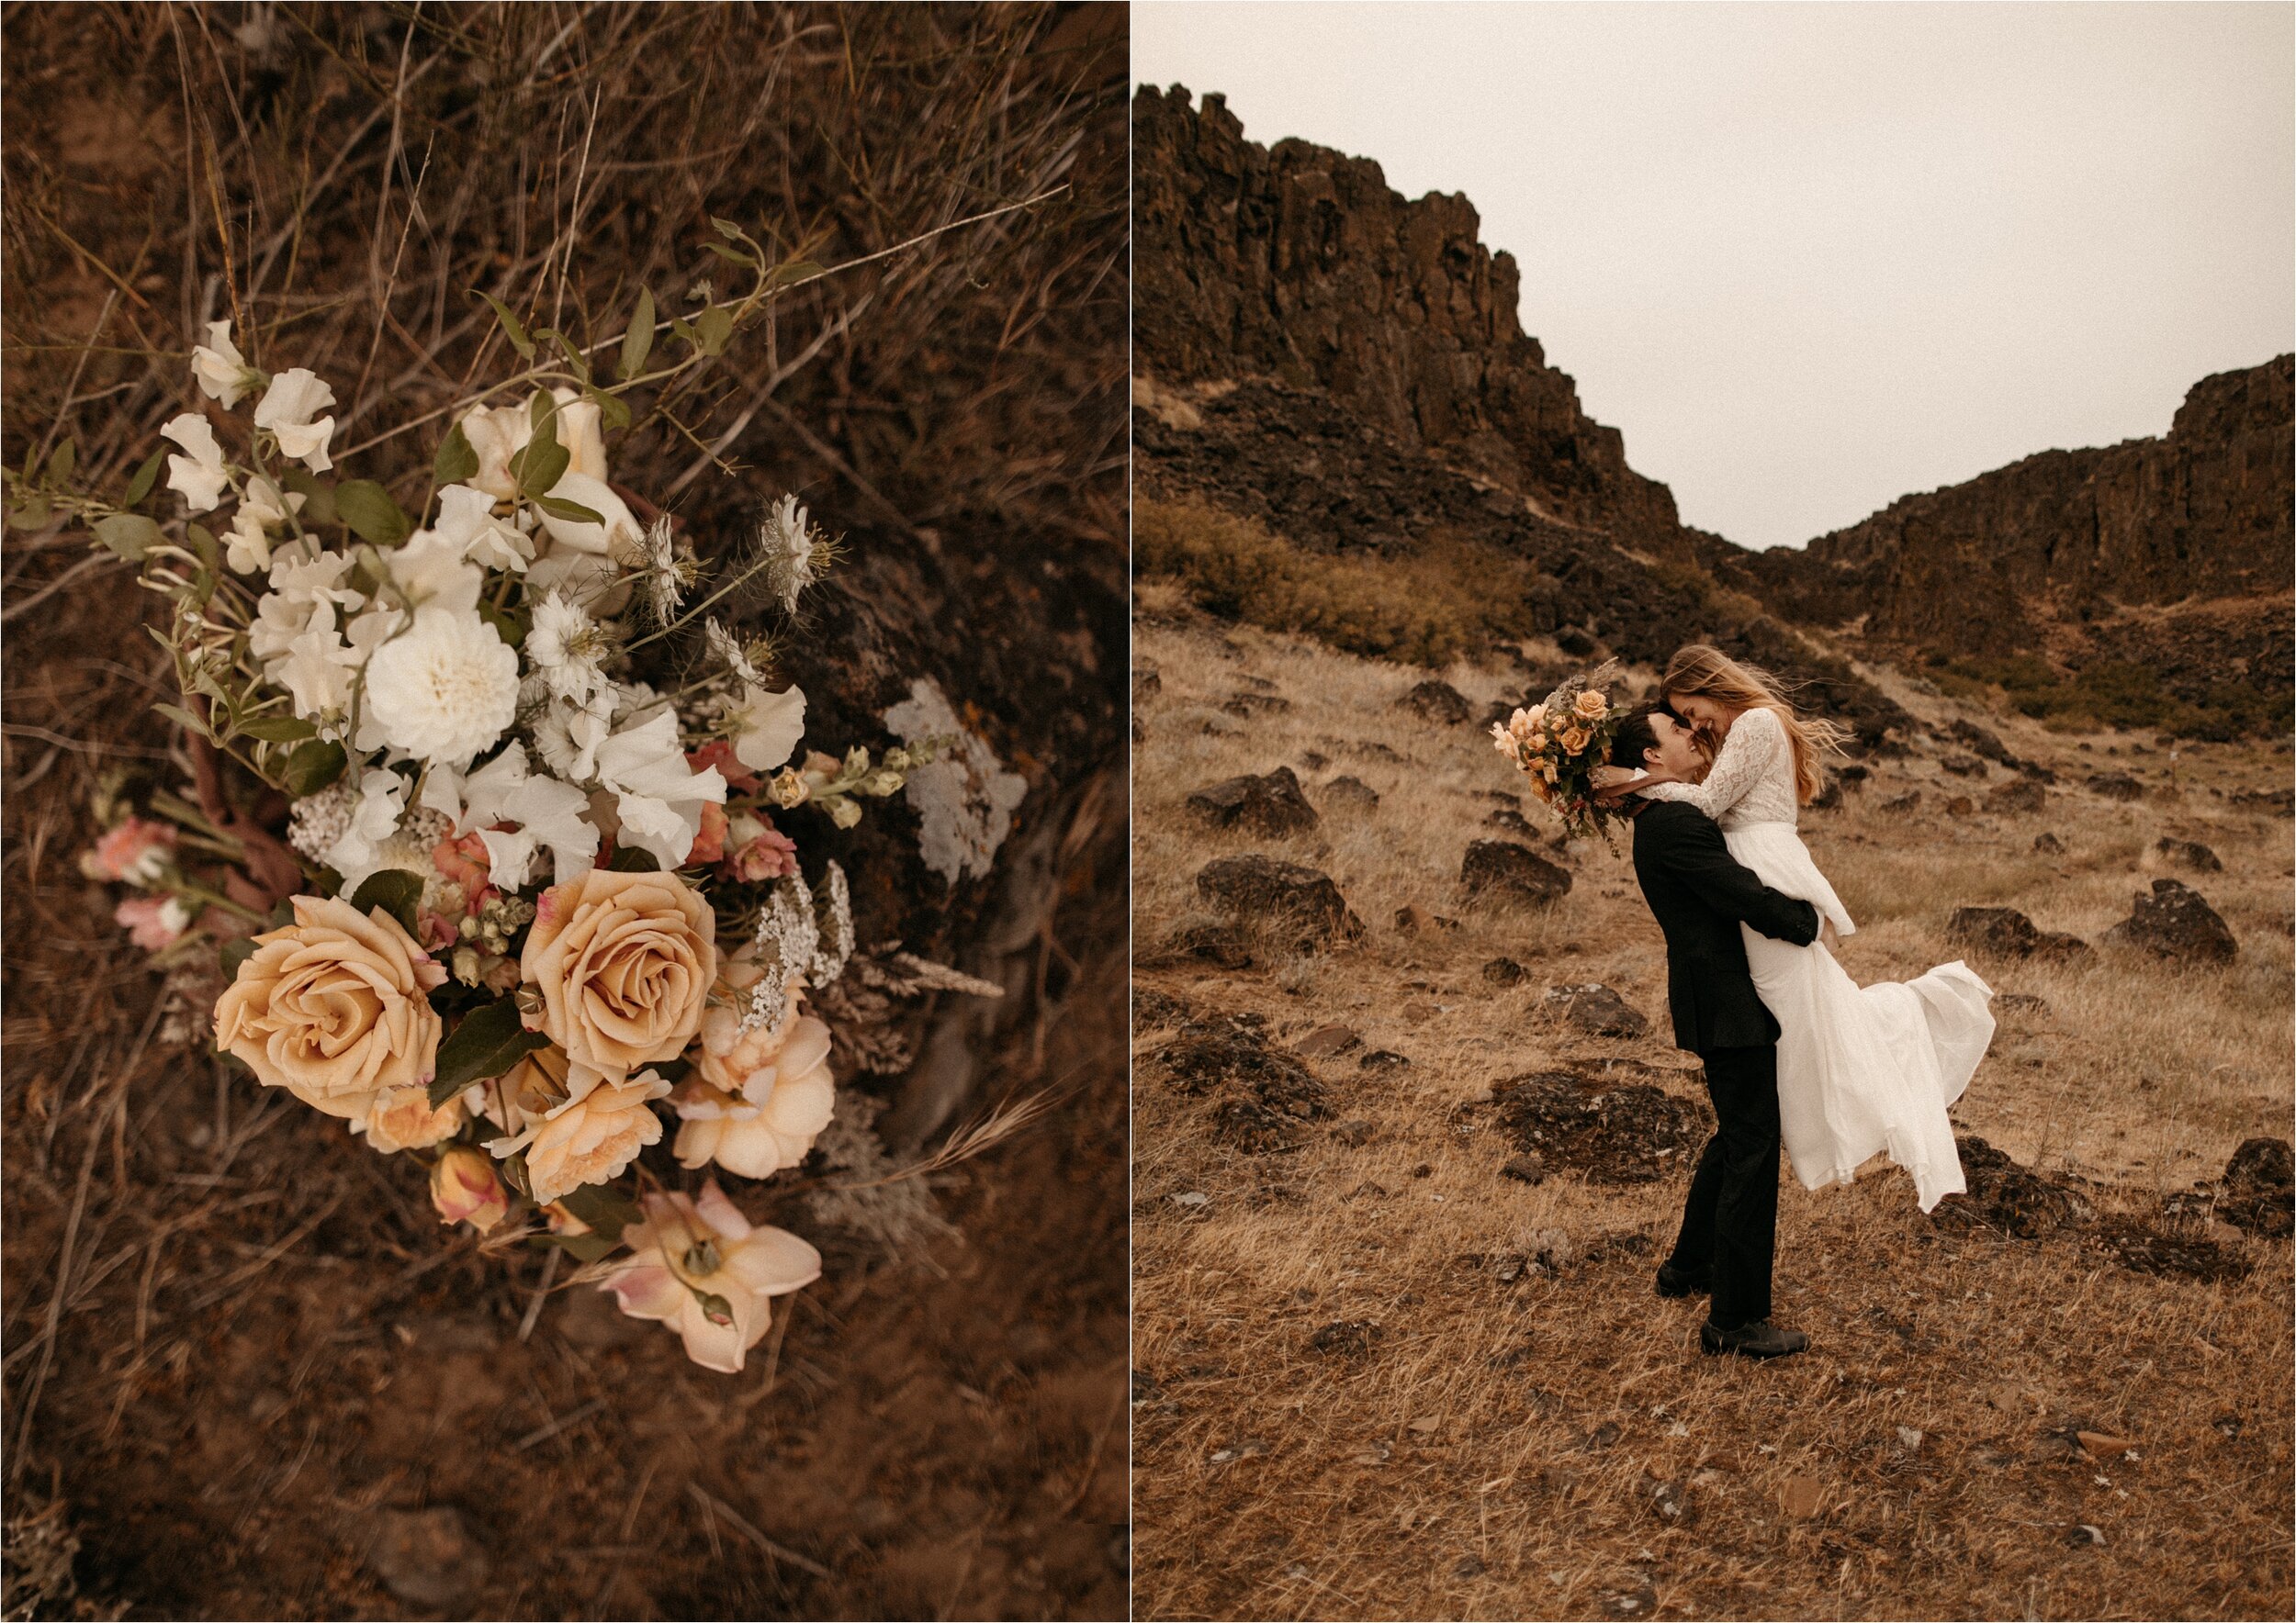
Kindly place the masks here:
<instances>
[{"instance_id":1,"label":"long white lace-sleeved wedding dress on the lifted woman","mask_svg":"<svg viewBox=\"0 0 2296 1623\"><path fill-rule=\"evenodd\" d=\"M1793 748L1775 712L1747 709L1731 723L1706 783L1639 792L1690 801L1722 824L1731 856L1766 886L1855 934L1795 833ZM1945 1111L1993 1042L1993 987L1961 960L1915 980L1860 987L1823 943L1793 946L1754 930L1745 930L1745 960L1777 1017L1777 1113L1802 1187L1846 1185L1860 1164L1887 1152L1913 1173L1924 1212L1968 1189Z\"/></svg>"}]
</instances>

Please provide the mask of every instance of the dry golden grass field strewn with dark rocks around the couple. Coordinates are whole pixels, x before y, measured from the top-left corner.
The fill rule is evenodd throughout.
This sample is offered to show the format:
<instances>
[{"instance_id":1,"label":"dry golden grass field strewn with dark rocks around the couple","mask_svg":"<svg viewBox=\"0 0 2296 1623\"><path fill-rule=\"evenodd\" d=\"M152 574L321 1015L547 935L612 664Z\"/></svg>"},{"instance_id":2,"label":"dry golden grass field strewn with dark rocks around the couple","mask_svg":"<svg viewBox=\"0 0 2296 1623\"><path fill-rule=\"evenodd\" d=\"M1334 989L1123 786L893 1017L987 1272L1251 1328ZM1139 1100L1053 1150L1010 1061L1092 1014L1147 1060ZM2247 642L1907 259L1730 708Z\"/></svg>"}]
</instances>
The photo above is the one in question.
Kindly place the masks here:
<instances>
[{"instance_id":1,"label":"dry golden grass field strewn with dark rocks around the couple","mask_svg":"<svg viewBox=\"0 0 2296 1623\"><path fill-rule=\"evenodd\" d=\"M1667 1042L1662 943L1623 845L1554 854L1552 820L1508 799L1575 884L1545 911L1479 911L1460 854L1508 838L1486 820L1520 785L1476 723L1396 707L1428 673L1208 620L1155 581L1134 661L1139 1616L2289 1616L2289 1247L2163 1205L2220 1178L2243 1139L2289 1132L2289 824L2229 799L2287 785L2285 746L2186 748L2172 783L2149 735L2053 735L1869 673L1924 723L1995 730L2057 785L2039 813L1952 817L1945 801L1984 785L1915 739L1869 762L1841 810L1807 813L1862 925L1853 976L1963 955L1945 941L1958 904L2094 941L2149 888L2163 836L2223 856L2183 877L2239 957L1972 957L2041 1003L2000 1010L1958 1129L2078 1191L2094 1221L2023 1240L1922 1217L1885 1164L1823 1194L1789 1175L1777 1315L1814 1350L1759 1366L1704 1359L1704 1304L1651 1290L1681 1171L1499 1171L1518 1146L1492 1081L1635 1061L1614 1074L1704 1097ZM1476 712L1520 684L1442 675ZM1210 831L1185 808L1279 764L1322 813L1313 831ZM2147 794L2101 799L2094 771ZM1339 774L1380 803L1343 810L1322 787ZM1917 808L1880 810L1915 787ZM2043 831L2062 854L2034 852ZM1242 969L1169 948L1212 923L1194 877L1228 852L1327 872L1362 939L1302 957L1263 930ZM1488 983L1497 957L1529 976ZM1566 983L1614 987L1651 1033L1557 1026L1541 999ZM1302 1061L1327 1116L1286 1120L1295 1150L1238 1148L1219 1093L1159 1058L1189 1022L1233 1028L1221 1017L1261 1017L1279 1054L1332 1024L1359 1035ZM1407 1065L1366 1065L1380 1051ZM2234 1276L2133 1272L2101 1244L2117 1219Z\"/></svg>"}]
</instances>

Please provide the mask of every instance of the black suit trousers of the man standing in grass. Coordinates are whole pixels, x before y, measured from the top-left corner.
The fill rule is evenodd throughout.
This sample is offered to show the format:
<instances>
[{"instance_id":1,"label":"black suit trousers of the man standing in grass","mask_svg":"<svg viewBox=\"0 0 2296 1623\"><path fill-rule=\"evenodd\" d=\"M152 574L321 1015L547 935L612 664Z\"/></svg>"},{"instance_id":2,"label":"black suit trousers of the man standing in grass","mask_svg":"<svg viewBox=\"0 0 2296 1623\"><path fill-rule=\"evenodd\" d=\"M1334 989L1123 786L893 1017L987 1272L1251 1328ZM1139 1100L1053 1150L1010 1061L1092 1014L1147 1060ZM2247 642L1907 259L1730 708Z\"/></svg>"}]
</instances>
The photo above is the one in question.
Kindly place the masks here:
<instances>
[{"instance_id":1,"label":"black suit trousers of the man standing in grass","mask_svg":"<svg viewBox=\"0 0 2296 1623\"><path fill-rule=\"evenodd\" d=\"M1713 1276L1713 1325L1738 1329L1770 1318L1777 1253L1777 1045L1708 1049L1706 1093L1715 1136L1699 1155L1683 1201L1674 1267Z\"/></svg>"}]
</instances>

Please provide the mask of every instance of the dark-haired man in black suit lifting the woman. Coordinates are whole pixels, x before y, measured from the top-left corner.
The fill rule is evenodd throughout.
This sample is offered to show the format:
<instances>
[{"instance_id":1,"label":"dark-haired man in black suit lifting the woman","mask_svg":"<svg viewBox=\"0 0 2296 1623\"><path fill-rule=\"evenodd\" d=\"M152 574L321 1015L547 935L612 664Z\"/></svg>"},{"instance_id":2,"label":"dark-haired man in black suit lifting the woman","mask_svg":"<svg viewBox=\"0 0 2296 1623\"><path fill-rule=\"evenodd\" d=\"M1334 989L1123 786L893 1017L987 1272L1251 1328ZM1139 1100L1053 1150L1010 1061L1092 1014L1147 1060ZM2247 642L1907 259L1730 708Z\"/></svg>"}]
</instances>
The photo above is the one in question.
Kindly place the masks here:
<instances>
[{"instance_id":1,"label":"dark-haired man in black suit lifting the woman","mask_svg":"<svg viewBox=\"0 0 2296 1623\"><path fill-rule=\"evenodd\" d=\"M1609 746L1614 767L1667 767L1699 778L1690 728L1658 705L1626 714ZM1745 966L1745 923L1809 946L1818 909L1768 888L1722 845L1722 829L1694 806L1628 797L1635 877L1667 937L1667 1010L1676 1047L1706 1061L1715 1136L1706 1141L1683 1203L1683 1233L1658 1269L1658 1295L1713 1295L1699 1345L1777 1359L1809 1336L1770 1322L1770 1258L1777 1251L1777 1022Z\"/></svg>"}]
</instances>

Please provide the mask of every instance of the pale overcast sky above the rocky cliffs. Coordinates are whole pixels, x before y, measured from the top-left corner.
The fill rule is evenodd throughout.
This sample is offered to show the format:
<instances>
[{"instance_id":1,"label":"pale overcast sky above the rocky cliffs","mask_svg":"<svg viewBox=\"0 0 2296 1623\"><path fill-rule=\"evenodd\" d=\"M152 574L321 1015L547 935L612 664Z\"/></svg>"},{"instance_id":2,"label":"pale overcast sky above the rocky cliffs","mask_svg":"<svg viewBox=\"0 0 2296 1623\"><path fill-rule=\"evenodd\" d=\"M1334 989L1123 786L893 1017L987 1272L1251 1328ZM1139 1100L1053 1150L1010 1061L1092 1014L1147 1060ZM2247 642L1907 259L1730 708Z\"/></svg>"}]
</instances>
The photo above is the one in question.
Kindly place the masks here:
<instances>
[{"instance_id":1,"label":"pale overcast sky above the rocky cliffs","mask_svg":"<svg viewBox=\"0 0 2296 1623\"><path fill-rule=\"evenodd\" d=\"M1137 0L1132 76L1467 193L1628 461L1777 546L2296 347L2291 18Z\"/></svg>"}]
</instances>

